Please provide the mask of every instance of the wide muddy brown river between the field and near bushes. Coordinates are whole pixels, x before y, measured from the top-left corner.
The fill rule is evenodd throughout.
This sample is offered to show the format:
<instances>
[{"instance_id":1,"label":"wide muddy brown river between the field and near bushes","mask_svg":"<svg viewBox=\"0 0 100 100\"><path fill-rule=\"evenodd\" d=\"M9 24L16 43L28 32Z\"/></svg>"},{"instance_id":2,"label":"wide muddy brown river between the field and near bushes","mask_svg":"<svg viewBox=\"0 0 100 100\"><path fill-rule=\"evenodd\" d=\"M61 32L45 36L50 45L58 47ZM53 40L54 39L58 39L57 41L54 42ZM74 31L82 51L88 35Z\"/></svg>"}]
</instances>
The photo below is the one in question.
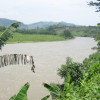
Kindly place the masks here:
<instances>
[{"instance_id":1,"label":"wide muddy brown river between the field and near bushes","mask_svg":"<svg viewBox=\"0 0 100 100\"><path fill-rule=\"evenodd\" d=\"M41 100L49 92L43 87L43 82L62 83L57 75L57 69L65 64L66 57L82 62L85 57L95 52L91 48L96 41L89 37L76 37L72 40L56 42L16 43L7 44L0 51L3 54L28 54L34 57L35 73L29 65L15 65L0 69L0 100L8 100L17 94L21 86L30 83L28 100Z\"/></svg>"}]
</instances>

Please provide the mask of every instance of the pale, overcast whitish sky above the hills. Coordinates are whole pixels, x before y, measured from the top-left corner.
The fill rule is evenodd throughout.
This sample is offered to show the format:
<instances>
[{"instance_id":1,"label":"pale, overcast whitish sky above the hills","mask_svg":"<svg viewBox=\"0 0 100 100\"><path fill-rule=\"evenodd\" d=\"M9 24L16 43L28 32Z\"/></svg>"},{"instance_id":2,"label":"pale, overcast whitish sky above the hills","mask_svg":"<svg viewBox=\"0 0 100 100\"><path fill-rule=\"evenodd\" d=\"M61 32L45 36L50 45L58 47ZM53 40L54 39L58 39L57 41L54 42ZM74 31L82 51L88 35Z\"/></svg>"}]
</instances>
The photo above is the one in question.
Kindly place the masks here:
<instances>
[{"instance_id":1,"label":"pale, overcast whitish sky above the hills","mask_svg":"<svg viewBox=\"0 0 100 100\"><path fill-rule=\"evenodd\" d=\"M89 7L90 0L0 0L0 18L31 24L64 21L76 25L97 25L99 13ZM95 1L95 0L92 0Z\"/></svg>"}]
</instances>

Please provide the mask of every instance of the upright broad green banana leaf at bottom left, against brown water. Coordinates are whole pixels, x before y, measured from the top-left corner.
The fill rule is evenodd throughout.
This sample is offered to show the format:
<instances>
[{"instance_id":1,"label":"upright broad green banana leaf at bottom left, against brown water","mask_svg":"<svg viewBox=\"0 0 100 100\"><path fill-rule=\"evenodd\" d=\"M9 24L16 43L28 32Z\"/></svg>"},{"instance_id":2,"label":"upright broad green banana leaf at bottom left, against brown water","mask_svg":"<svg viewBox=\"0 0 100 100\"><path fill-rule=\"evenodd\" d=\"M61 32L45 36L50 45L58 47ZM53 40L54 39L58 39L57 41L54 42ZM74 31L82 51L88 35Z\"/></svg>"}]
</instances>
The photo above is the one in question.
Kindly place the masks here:
<instances>
[{"instance_id":1,"label":"upright broad green banana leaf at bottom left, against brown water","mask_svg":"<svg viewBox=\"0 0 100 100\"><path fill-rule=\"evenodd\" d=\"M27 90L30 84L27 82L19 91L17 95L14 95L9 100L28 100L27 98Z\"/></svg>"}]
</instances>

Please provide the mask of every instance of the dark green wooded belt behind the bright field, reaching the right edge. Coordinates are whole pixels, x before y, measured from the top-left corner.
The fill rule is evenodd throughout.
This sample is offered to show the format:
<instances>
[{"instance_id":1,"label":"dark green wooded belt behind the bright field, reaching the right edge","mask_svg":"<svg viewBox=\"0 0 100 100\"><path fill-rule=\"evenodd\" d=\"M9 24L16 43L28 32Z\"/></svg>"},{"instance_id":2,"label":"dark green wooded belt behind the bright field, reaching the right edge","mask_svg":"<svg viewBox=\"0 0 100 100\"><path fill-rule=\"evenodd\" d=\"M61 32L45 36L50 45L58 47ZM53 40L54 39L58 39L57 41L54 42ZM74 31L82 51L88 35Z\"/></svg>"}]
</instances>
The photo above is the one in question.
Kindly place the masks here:
<instances>
[{"instance_id":1,"label":"dark green wooded belt behind the bright field, reaching the right edge","mask_svg":"<svg viewBox=\"0 0 100 100\"><path fill-rule=\"evenodd\" d=\"M6 27L0 26L0 31L4 31L5 29ZM66 26L57 24L38 29L19 28L16 30L16 32L21 34L60 35L64 36L65 38L72 38L73 36L96 37L98 32L100 32L100 26Z\"/></svg>"}]
</instances>

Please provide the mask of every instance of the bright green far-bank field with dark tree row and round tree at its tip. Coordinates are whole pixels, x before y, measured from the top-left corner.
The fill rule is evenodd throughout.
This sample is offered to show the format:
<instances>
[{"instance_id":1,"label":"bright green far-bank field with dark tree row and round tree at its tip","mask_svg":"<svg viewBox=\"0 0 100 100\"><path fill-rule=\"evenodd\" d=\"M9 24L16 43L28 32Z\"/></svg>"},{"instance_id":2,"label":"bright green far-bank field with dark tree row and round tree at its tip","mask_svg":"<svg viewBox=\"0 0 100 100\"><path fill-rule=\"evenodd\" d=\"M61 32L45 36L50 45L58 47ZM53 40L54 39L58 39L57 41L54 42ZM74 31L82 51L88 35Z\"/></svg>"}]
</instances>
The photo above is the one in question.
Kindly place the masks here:
<instances>
[{"instance_id":1,"label":"bright green far-bank field with dark tree row and round tree at its tip","mask_svg":"<svg viewBox=\"0 0 100 100\"><path fill-rule=\"evenodd\" d=\"M0 34L3 32L3 27L1 28ZM69 30L64 30L61 35L56 34L55 31L48 31L45 29L41 30L17 30L13 37L8 40L10 43L14 42L40 42L40 41L62 41L65 39L73 38Z\"/></svg>"}]
</instances>

